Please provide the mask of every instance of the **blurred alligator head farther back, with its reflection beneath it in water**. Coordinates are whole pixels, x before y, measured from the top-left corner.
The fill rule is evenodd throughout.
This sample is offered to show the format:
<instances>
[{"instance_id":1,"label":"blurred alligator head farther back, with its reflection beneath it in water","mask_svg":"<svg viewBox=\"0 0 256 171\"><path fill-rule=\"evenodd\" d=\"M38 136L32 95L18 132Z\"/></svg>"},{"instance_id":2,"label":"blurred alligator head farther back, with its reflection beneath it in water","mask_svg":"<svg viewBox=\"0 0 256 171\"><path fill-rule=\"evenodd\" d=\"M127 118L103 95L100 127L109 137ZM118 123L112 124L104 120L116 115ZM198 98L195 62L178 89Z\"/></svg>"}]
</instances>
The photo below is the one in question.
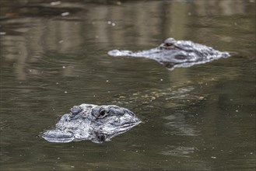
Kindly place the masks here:
<instances>
[{"instance_id":1,"label":"blurred alligator head farther back, with its reflection beneath it in water","mask_svg":"<svg viewBox=\"0 0 256 171\"><path fill-rule=\"evenodd\" d=\"M147 51L109 51L110 56L129 56L139 58L149 58L160 62L168 69L177 67L190 67L192 65L204 64L219 58L228 58L228 52L221 52L202 44L195 44L191 41L174 40L168 38L159 47Z\"/></svg>"}]
</instances>

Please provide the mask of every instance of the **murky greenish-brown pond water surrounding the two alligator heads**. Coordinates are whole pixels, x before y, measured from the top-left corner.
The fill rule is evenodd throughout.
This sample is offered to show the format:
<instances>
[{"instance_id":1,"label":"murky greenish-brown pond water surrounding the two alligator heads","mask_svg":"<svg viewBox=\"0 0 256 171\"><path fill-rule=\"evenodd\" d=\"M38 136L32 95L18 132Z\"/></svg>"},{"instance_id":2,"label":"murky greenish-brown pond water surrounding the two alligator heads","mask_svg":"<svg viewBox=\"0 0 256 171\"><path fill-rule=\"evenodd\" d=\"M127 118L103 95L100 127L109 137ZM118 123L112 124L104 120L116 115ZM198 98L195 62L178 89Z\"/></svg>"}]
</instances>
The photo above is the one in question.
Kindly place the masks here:
<instances>
[{"instance_id":1,"label":"murky greenish-brown pond water surrounding the two alligator heads","mask_svg":"<svg viewBox=\"0 0 256 171\"><path fill-rule=\"evenodd\" d=\"M255 1L1 1L1 170L255 170ZM169 71L113 58L167 37L222 58ZM112 141L40 134L81 103L142 124Z\"/></svg>"}]
</instances>

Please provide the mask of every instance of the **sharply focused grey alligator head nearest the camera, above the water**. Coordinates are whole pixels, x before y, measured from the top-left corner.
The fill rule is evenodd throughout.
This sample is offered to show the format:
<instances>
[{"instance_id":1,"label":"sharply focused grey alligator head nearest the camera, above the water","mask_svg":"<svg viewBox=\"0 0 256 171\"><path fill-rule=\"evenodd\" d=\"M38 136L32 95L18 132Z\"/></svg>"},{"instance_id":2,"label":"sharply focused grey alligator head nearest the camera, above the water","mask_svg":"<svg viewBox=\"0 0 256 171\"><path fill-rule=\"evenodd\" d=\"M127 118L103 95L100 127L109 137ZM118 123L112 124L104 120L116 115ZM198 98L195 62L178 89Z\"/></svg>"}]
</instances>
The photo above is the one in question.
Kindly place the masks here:
<instances>
[{"instance_id":1,"label":"sharply focused grey alligator head nearest the camera, above the water","mask_svg":"<svg viewBox=\"0 0 256 171\"><path fill-rule=\"evenodd\" d=\"M51 142L91 140L101 143L140 122L134 113L119 106L81 104L73 106L71 113L63 115L56 128L44 132L42 137Z\"/></svg>"}]
</instances>

